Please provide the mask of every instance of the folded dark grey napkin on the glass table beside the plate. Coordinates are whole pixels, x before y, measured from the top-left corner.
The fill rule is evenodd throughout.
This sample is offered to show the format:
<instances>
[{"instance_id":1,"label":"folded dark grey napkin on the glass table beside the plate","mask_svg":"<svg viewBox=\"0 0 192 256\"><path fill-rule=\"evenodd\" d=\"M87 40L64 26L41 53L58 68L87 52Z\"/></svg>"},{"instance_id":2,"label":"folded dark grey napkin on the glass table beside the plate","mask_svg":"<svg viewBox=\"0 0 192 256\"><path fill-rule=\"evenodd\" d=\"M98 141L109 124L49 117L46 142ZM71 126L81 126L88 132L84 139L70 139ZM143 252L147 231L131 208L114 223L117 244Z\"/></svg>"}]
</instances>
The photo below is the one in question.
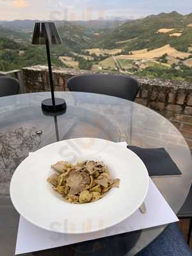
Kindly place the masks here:
<instances>
[{"instance_id":1,"label":"folded dark grey napkin on the glass table beside the plate","mask_svg":"<svg viewBox=\"0 0 192 256\"><path fill-rule=\"evenodd\" d=\"M150 176L182 174L164 148L139 148L127 146L147 167Z\"/></svg>"}]
</instances>

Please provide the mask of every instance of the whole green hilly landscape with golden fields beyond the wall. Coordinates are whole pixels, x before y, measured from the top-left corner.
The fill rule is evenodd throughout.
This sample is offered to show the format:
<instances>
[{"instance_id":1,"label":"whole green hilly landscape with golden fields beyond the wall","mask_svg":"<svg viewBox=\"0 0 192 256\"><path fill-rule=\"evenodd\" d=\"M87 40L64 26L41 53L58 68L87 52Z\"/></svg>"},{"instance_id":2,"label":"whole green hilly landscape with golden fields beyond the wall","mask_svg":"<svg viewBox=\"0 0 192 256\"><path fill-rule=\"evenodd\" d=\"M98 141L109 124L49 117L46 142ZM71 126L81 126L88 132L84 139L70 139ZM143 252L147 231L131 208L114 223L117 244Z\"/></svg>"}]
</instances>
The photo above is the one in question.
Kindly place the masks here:
<instances>
[{"instance_id":1,"label":"whole green hilly landscape with golden fields beyond the wall","mask_svg":"<svg viewBox=\"0 0 192 256\"><path fill-rule=\"evenodd\" d=\"M34 23L35 20L0 22L0 70L47 63L45 46L31 45ZM138 76L192 81L192 68L189 63L191 59L189 51L192 51L192 13L189 15L181 15L177 12L159 13L159 15L127 21L68 22L57 20L55 23L63 44L51 46L52 65L66 67L66 61L65 65L58 60L58 57L68 56L76 64L78 61L79 68L82 69L95 67L98 70L113 70L114 61L110 67L100 67L100 63L104 60L109 65L111 59L108 57L111 54L118 55L114 52L121 52L120 55L129 54L129 56L127 58L116 56L115 58L120 66L124 66L123 70L129 74L131 72ZM159 51L157 48L164 45L166 49L171 49L170 56L168 52L160 52L162 56L159 52L157 54ZM172 47L180 52L178 53ZM94 53L90 56L90 51L83 51L93 48L100 48L97 49L100 56ZM108 49L113 49L113 51L108 51ZM141 49L144 51L138 52L139 56L133 58L136 53L132 51ZM150 51L153 49L157 50ZM188 54L183 53L184 51ZM107 56L103 52L111 53ZM142 52L145 52L144 56ZM156 59L152 60L149 65L145 61L148 61L148 58L154 58L154 52L157 54ZM148 57L147 54L152 56ZM180 58L181 55L178 54L184 57ZM144 62L140 63L141 61L138 61L140 58ZM189 59L188 62L186 62L187 59Z\"/></svg>"}]
</instances>

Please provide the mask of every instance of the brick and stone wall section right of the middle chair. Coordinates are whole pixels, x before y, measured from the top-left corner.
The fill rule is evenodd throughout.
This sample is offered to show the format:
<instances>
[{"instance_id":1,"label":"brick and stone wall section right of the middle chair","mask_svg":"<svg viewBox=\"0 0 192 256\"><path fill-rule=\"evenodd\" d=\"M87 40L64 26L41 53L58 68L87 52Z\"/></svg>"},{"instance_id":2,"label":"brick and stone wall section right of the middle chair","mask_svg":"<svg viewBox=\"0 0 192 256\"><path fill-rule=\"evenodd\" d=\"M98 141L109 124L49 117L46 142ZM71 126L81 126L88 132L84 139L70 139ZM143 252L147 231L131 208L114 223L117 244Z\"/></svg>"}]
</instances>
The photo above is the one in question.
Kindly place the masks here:
<instances>
[{"instance_id":1,"label":"brick and stone wall section right of the middle chair","mask_svg":"<svg viewBox=\"0 0 192 256\"><path fill-rule=\"evenodd\" d=\"M136 102L168 118L192 150L192 84L161 79L139 79Z\"/></svg>"}]
</instances>

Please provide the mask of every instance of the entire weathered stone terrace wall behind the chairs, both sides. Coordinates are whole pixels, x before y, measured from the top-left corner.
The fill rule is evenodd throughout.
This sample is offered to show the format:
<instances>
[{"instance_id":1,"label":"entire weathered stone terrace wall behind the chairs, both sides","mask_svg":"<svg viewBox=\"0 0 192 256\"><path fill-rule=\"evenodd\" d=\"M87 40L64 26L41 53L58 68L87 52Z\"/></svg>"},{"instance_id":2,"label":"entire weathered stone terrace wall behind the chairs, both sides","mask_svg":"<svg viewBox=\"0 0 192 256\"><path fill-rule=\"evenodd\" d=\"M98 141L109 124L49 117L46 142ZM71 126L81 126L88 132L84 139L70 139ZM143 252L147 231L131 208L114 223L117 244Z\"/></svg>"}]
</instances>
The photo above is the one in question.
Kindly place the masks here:
<instances>
[{"instance_id":1,"label":"entire weathered stone terrace wall behind the chairs, both sides","mask_svg":"<svg viewBox=\"0 0 192 256\"><path fill-rule=\"evenodd\" d=\"M86 73L90 74L90 71L53 68L55 90L67 91L68 78ZM27 93L50 90L47 67L23 68L22 75ZM140 82L136 102L168 118L180 130L192 150L192 84L161 79L136 79Z\"/></svg>"}]
</instances>

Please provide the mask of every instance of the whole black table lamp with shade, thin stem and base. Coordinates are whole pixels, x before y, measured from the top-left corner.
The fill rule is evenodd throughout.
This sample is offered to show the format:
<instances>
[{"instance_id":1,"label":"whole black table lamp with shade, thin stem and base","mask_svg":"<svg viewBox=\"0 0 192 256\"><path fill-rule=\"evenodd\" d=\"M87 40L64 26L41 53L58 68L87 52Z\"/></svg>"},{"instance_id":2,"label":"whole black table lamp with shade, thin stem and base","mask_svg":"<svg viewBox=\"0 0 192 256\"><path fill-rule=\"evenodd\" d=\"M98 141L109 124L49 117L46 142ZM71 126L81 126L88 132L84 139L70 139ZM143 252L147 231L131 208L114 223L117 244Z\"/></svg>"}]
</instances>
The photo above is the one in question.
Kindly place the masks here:
<instances>
[{"instance_id":1,"label":"whole black table lamp with shade, thin stem and base","mask_svg":"<svg viewBox=\"0 0 192 256\"><path fill-rule=\"evenodd\" d=\"M56 29L54 22L36 22L33 32L32 44L46 45L47 62L49 67L49 82L51 85L51 99L42 101L42 109L47 112L63 111L66 108L64 99L54 97L54 85L52 81L52 68L49 45L62 44L60 35Z\"/></svg>"}]
</instances>

